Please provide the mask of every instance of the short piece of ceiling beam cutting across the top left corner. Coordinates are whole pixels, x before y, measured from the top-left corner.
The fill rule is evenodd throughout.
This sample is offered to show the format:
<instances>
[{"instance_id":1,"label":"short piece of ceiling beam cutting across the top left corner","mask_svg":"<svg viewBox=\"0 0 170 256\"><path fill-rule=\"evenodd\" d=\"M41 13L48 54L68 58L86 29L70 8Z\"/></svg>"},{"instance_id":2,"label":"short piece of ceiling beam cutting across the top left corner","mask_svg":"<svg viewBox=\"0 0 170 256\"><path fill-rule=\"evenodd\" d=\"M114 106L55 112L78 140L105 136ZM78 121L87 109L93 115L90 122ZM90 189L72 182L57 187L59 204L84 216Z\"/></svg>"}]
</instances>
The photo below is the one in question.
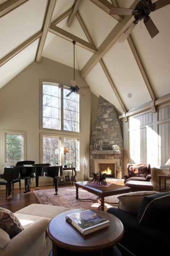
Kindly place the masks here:
<instances>
[{"instance_id":1,"label":"short piece of ceiling beam cutting across the top left corner","mask_svg":"<svg viewBox=\"0 0 170 256\"><path fill-rule=\"evenodd\" d=\"M7 13L13 11L15 8L24 4L28 0L9 0L0 5L0 17L3 17Z\"/></svg>"}]
</instances>

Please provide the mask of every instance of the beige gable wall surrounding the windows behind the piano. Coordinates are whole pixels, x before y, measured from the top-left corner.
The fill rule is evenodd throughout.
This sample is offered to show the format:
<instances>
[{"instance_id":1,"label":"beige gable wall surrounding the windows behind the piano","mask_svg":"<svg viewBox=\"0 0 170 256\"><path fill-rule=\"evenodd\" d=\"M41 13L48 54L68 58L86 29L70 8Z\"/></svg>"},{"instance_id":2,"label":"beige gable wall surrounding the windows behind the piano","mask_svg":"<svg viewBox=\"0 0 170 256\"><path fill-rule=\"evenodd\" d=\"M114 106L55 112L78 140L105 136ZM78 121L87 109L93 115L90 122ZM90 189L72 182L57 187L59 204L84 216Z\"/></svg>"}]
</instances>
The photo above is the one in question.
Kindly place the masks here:
<instances>
[{"instance_id":1,"label":"beige gable wall surrounding the windows behind the piano","mask_svg":"<svg viewBox=\"0 0 170 256\"><path fill-rule=\"evenodd\" d=\"M75 70L76 84L86 86L80 72ZM54 80L70 85L73 79L73 69L69 66L41 58L41 62L31 63L7 85L0 89L0 133L2 129L26 131L26 160L41 163L40 134L58 134L55 131L40 130L40 80ZM80 133L71 133L81 138L81 173L77 180L83 179L84 156L89 162L89 140L91 130L91 92L83 90L85 97L80 97ZM71 135L69 134L69 135ZM68 133L67 133L68 135ZM0 134L0 149L1 147ZM0 173L4 172L0 154ZM39 184L52 182L51 178L40 177ZM35 180L33 182L35 184ZM15 184L17 186L18 183ZM24 186L24 181L22 181ZM0 186L4 189L4 186Z\"/></svg>"}]
</instances>

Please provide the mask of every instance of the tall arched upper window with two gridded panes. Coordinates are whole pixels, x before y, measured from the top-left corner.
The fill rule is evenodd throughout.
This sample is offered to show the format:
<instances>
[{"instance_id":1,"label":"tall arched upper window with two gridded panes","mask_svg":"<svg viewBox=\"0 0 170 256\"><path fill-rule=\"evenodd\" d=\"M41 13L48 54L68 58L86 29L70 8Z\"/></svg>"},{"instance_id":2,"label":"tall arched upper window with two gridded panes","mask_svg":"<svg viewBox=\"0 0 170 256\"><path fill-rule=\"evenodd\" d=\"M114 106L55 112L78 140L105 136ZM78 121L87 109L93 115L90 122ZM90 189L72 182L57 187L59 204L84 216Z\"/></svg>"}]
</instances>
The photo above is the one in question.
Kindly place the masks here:
<instances>
[{"instance_id":1,"label":"tall arched upper window with two gridded panes","mask_svg":"<svg viewBox=\"0 0 170 256\"><path fill-rule=\"evenodd\" d=\"M79 95L63 84L42 82L42 129L79 132Z\"/></svg>"}]
</instances>

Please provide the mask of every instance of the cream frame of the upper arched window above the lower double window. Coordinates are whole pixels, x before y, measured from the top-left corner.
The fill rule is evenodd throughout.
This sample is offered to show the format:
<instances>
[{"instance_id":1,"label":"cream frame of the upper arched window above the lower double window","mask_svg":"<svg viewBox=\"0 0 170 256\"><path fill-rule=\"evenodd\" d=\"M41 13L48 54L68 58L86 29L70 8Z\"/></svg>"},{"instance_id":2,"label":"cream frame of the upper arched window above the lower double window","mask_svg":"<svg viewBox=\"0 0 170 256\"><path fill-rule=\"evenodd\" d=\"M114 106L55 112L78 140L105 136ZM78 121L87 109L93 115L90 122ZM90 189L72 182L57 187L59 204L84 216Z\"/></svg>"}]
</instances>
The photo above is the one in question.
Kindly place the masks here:
<instances>
[{"instance_id":1,"label":"cream frame of the upper arched window above the lower double window","mask_svg":"<svg viewBox=\"0 0 170 256\"><path fill-rule=\"evenodd\" d=\"M63 126L64 126L64 121L63 121L63 90L61 90L60 93L60 114L59 114L59 129L51 129L51 128L44 128L43 127L43 84L49 84L49 85L55 85L55 86L59 86L59 87L64 87L64 89L69 89L70 86L58 81L51 81L51 80L40 80L40 129L41 130L49 130L49 131L63 131L65 133L80 133L80 97L77 100L77 131L68 131L68 130L64 130Z\"/></svg>"}]
</instances>

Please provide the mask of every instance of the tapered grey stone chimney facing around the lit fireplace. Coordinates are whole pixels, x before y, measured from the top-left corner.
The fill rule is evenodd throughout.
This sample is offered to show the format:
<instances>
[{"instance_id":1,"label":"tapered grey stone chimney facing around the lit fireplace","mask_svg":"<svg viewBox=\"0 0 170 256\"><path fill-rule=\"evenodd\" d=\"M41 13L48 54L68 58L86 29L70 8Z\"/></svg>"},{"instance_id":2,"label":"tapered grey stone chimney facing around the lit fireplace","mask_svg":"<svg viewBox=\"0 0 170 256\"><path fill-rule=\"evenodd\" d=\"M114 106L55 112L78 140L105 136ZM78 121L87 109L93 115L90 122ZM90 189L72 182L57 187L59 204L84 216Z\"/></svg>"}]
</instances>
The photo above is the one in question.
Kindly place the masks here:
<instances>
[{"instance_id":1,"label":"tapered grey stone chimney facing around the lit fireplace","mask_svg":"<svg viewBox=\"0 0 170 256\"><path fill-rule=\"evenodd\" d=\"M100 140L102 140L102 151L100 148ZM97 144L97 151L94 151L94 144ZM112 145L120 147L119 154L115 154ZM93 151L93 153L92 153ZM122 177L124 174L124 152L123 137L120 129L115 106L109 101L99 96L97 112L94 121L92 138L90 141L90 177L93 177L94 159L119 159L122 167ZM119 167L120 167L119 166Z\"/></svg>"}]
</instances>

